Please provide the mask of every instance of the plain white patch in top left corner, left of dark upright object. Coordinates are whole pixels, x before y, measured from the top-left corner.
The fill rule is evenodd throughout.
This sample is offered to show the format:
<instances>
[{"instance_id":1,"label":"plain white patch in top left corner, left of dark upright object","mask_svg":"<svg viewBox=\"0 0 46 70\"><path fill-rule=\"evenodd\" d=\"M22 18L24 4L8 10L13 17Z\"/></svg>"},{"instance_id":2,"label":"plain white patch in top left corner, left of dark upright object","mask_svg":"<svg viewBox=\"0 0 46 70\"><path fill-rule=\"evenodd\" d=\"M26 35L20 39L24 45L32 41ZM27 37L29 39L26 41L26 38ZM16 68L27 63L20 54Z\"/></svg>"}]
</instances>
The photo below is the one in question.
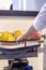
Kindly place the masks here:
<instances>
[{"instance_id":1,"label":"plain white patch in top left corner, left of dark upright object","mask_svg":"<svg viewBox=\"0 0 46 70\"><path fill-rule=\"evenodd\" d=\"M10 10L12 0L0 0L0 10Z\"/></svg>"}]
</instances>

